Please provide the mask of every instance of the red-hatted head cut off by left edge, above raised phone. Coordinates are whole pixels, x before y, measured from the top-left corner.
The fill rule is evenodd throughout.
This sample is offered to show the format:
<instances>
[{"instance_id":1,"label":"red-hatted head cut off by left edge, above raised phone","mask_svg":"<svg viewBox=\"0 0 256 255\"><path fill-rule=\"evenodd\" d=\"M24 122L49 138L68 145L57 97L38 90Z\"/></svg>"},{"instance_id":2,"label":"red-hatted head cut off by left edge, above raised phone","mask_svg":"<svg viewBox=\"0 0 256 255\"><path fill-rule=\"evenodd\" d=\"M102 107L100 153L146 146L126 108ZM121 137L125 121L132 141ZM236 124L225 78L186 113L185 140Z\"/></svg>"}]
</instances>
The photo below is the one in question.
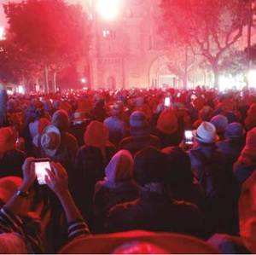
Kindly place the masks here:
<instances>
[{"instance_id":1,"label":"red-hatted head cut off by left edge, above raised phone","mask_svg":"<svg viewBox=\"0 0 256 255\"><path fill-rule=\"evenodd\" d=\"M0 128L0 154L15 149L17 133L12 127Z\"/></svg>"}]
</instances>

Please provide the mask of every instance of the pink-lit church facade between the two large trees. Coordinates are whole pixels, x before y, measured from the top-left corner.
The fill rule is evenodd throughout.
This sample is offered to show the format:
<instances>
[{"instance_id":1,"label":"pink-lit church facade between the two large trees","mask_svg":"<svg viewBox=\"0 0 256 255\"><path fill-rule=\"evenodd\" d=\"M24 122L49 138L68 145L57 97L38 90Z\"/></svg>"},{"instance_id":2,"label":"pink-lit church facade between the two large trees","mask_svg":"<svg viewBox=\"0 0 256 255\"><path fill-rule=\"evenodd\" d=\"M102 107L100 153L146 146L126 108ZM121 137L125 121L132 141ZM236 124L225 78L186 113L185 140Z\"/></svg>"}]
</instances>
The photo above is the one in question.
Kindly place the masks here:
<instances>
[{"instance_id":1,"label":"pink-lit church facade between the two large trees","mask_svg":"<svg viewBox=\"0 0 256 255\"><path fill-rule=\"evenodd\" d=\"M94 12L90 83L108 89L179 84L166 67L167 52L155 26L157 1L123 2L116 20Z\"/></svg>"}]
</instances>

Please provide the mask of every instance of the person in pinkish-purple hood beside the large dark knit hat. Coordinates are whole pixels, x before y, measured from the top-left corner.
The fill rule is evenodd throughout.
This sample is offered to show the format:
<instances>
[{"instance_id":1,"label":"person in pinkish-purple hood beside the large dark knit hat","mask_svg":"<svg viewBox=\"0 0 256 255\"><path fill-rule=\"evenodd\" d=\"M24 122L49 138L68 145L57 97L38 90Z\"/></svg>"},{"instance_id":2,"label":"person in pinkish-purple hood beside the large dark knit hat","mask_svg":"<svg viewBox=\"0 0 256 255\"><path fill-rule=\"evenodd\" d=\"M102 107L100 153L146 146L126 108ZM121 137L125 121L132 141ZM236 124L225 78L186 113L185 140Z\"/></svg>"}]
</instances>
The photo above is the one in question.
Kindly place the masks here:
<instances>
[{"instance_id":1,"label":"person in pinkish-purple hood beside the large dark knit hat","mask_svg":"<svg viewBox=\"0 0 256 255\"><path fill-rule=\"evenodd\" d=\"M96 183L94 196L95 223L103 229L103 223L112 206L135 200L138 188L133 181L133 159L130 152L120 150L105 169L106 177Z\"/></svg>"}]
</instances>

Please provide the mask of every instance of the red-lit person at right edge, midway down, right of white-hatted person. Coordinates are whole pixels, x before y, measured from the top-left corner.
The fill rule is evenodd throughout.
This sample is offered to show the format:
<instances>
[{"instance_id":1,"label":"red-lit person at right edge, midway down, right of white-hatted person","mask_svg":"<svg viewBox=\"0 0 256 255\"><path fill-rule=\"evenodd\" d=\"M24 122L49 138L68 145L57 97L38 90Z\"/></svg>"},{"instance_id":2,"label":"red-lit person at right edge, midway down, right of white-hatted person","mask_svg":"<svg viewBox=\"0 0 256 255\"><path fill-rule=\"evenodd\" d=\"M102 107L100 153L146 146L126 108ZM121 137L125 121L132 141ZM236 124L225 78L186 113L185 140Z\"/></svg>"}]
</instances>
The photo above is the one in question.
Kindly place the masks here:
<instances>
[{"instance_id":1,"label":"red-lit person at right edge, midway down, right of white-hatted person","mask_svg":"<svg viewBox=\"0 0 256 255\"><path fill-rule=\"evenodd\" d=\"M241 185L256 169L256 127L247 132L246 144L233 165L236 181Z\"/></svg>"}]
</instances>

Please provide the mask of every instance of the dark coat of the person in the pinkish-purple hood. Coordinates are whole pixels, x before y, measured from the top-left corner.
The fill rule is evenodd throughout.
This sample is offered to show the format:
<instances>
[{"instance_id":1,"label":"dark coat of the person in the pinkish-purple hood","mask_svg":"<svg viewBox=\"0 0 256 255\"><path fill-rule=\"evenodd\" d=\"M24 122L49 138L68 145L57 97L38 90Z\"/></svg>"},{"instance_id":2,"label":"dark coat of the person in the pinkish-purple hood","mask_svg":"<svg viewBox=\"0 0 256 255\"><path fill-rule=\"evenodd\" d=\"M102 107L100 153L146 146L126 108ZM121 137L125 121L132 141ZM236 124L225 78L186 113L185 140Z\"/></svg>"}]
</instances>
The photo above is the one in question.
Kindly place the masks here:
<instances>
[{"instance_id":1,"label":"dark coat of the person in the pinkish-purple hood","mask_svg":"<svg viewBox=\"0 0 256 255\"><path fill-rule=\"evenodd\" d=\"M105 181L96 183L94 196L94 222L96 232L102 232L104 222L111 207L120 203L136 200L139 195L138 187L132 182L118 183L110 187Z\"/></svg>"}]
</instances>

